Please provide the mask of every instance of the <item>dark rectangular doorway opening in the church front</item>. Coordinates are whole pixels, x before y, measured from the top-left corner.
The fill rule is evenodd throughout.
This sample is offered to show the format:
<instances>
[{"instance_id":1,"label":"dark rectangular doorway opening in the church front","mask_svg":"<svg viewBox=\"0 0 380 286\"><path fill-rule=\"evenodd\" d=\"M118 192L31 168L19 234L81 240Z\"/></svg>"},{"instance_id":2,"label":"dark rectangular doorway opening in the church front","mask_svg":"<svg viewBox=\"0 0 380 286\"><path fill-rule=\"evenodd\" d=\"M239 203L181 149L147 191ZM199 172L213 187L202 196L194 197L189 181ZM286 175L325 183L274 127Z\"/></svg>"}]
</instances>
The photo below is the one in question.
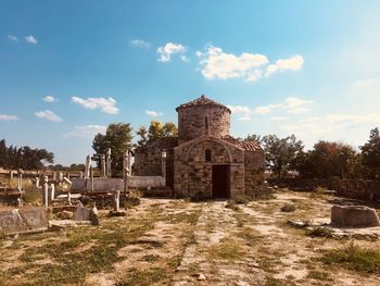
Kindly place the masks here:
<instances>
[{"instance_id":1,"label":"dark rectangular doorway opening in the church front","mask_svg":"<svg viewBox=\"0 0 380 286\"><path fill-rule=\"evenodd\" d=\"M228 165L213 165L213 198L230 198L230 181Z\"/></svg>"}]
</instances>

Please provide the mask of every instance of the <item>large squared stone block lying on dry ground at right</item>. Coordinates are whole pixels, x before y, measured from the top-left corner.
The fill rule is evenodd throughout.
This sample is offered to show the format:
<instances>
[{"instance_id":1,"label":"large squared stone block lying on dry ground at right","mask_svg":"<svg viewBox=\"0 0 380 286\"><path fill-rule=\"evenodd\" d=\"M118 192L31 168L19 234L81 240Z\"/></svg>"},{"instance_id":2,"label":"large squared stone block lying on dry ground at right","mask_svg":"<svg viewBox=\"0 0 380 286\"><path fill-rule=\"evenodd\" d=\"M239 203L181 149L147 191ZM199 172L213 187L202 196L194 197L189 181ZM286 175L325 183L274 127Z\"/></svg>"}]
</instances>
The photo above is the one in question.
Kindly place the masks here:
<instances>
[{"instance_id":1,"label":"large squared stone block lying on dry ground at right","mask_svg":"<svg viewBox=\"0 0 380 286\"><path fill-rule=\"evenodd\" d=\"M366 206L333 206L331 225L338 227L373 227L380 226L375 209Z\"/></svg>"}]
</instances>

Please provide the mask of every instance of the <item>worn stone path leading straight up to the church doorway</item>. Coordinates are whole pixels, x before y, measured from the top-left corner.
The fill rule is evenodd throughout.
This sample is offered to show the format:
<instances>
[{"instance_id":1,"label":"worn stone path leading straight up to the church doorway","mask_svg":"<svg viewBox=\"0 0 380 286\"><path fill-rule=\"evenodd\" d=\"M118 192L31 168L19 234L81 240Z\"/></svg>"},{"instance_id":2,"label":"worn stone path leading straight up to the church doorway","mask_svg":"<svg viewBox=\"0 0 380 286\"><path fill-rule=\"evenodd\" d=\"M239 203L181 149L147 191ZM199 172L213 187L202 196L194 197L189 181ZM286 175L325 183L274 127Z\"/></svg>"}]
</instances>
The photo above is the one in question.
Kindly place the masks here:
<instances>
[{"instance_id":1,"label":"worn stone path leading straight up to the church doorway","mask_svg":"<svg viewBox=\"0 0 380 286\"><path fill-rule=\"evenodd\" d=\"M263 285L252 251L231 241L237 233L238 220L226 202L205 203L173 285Z\"/></svg>"}]
</instances>

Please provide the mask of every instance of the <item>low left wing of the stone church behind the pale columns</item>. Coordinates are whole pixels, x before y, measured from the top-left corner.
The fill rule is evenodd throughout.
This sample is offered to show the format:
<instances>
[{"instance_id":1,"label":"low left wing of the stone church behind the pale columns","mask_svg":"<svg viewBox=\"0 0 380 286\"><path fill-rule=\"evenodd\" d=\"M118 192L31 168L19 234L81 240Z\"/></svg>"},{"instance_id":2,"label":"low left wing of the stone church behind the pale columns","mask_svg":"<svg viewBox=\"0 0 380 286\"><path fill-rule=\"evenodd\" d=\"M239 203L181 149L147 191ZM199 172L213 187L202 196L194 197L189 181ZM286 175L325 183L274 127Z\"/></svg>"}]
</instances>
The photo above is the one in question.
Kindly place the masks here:
<instances>
[{"instance_id":1,"label":"low left wing of the stone church behind the pale columns","mask_svg":"<svg viewBox=\"0 0 380 286\"><path fill-rule=\"evenodd\" d=\"M174 150L178 145L177 138L165 138L149 141L135 151L136 176L161 176L162 152L166 152L166 186L173 187L174 181Z\"/></svg>"}]
</instances>

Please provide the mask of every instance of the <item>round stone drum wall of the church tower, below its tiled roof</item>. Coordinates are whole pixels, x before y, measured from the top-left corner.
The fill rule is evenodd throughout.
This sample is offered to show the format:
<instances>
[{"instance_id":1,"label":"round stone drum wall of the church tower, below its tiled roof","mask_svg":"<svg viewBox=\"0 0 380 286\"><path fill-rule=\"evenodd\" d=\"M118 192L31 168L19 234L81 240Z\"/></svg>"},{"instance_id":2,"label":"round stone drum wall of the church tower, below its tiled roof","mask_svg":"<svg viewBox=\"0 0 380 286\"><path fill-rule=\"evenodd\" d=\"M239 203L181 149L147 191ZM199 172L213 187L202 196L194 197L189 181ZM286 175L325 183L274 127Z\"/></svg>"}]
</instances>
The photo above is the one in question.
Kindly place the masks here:
<instances>
[{"instance_id":1,"label":"round stone drum wall of the church tower, below its tiled roof","mask_svg":"<svg viewBox=\"0 0 380 286\"><path fill-rule=\"evenodd\" d=\"M207 117L208 132L205 127ZM188 107L178 110L179 144L208 135L221 138L230 133L230 113L217 105Z\"/></svg>"}]
</instances>

